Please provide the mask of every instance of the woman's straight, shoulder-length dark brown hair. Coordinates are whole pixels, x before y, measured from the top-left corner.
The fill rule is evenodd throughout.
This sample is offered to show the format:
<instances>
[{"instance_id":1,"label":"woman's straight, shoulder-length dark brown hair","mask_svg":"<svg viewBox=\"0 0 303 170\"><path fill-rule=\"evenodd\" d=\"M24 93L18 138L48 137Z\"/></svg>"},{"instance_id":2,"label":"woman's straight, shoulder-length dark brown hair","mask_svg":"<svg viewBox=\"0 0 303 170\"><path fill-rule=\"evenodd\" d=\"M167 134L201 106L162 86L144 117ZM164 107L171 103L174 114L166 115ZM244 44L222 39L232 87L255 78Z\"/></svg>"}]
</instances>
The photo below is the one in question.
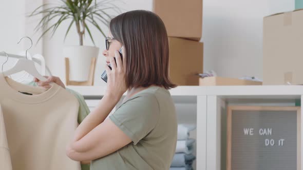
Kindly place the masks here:
<instances>
[{"instance_id":1,"label":"woman's straight, shoulder-length dark brown hair","mask_svg":"<svg viewBox=\"0 0 303 170\"><path fill-rule=\"evenodd\" d=\"M112 18L109 27L125 48L127 88L176 87L168 78L168 38L159 16L150 11L129 11Z\"/></svg>"}]
</instances>

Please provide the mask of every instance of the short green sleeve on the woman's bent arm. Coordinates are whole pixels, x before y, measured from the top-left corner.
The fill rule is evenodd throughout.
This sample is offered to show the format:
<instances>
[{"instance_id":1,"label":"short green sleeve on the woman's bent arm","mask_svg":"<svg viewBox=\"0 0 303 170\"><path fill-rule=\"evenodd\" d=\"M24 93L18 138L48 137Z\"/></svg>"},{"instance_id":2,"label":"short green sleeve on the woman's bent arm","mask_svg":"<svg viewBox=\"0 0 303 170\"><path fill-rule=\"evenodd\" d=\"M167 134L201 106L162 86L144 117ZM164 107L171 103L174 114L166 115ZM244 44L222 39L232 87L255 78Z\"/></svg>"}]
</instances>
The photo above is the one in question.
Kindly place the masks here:
<instances>
[{"instance_id":1,"label":"short green sleeve on the woman's bent arm","mask_svg":"<svg viewBox=\"0 0 303 170\"><path fill-rule=\"evenodd\" d=\"M155 95L144 94L127 100L109 118L137 144L157 125L159 103Z\"/></svg>"}]
</instances>

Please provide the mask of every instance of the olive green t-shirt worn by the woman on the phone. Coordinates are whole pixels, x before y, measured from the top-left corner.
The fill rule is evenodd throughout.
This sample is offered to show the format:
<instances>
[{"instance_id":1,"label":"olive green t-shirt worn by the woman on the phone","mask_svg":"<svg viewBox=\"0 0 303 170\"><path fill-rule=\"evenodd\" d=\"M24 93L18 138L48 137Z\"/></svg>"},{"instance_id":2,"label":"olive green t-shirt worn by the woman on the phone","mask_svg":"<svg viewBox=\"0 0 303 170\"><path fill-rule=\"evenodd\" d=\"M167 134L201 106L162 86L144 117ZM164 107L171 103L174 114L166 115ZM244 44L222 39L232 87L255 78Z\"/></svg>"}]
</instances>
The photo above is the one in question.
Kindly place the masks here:
<instances>
[{"instance_id":1,"label":"olive green t-shirt worn by the woman on the phone","mask_svg":"<svg viewBox=\"0 0 303 170\"><path fill-rule=\"evenodd\" d=\"M132 142L93 160L91 170L169 169L176 150L177 118L168 90L155 86L142 90L109 118Z\"/></svg>"}]
</instances>

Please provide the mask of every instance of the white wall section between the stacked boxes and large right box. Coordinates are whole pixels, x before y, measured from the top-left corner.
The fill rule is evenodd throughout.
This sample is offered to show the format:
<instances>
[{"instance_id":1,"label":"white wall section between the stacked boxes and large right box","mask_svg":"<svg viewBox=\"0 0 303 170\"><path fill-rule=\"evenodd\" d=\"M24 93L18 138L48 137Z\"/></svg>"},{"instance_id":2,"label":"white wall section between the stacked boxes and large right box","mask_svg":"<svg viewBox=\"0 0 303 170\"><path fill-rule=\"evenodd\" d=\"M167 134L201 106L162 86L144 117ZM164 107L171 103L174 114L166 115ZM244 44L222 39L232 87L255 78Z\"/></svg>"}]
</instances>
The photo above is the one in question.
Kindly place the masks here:
<instances>
[{"instance_id":1,"label":"white wall section between the stacked boxes and large right box","mask_svg":"<svg viewBox=\"0 0 303 170\"><path fill-rule=\"evenodd\" d=\"M293 0L204 0L204 71L262 78L262 18L293 9Z\"/></svg>"}]
</instances>

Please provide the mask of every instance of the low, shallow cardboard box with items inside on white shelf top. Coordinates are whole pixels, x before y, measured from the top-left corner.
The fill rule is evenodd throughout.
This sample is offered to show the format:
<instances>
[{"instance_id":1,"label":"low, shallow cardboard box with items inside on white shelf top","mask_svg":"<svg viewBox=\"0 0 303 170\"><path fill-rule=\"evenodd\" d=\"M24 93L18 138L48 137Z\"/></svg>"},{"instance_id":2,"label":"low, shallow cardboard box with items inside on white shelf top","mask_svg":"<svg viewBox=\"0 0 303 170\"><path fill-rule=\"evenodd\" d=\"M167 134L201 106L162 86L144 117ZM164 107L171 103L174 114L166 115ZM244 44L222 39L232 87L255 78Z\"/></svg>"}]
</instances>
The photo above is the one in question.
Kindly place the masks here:
<instances>
[{"instance_id":1,"label":"low, shallow cardboard box with items inside on white shelf top","mask_svg":"<svg viewBox=\"0 0 303 170\"><path fill-rule=\"evenodd\" d=\"M226 77L205 77L199 78L199 86L248 86L262 85L260 81L242 80Z\"/></svg>"}]
</instances>

